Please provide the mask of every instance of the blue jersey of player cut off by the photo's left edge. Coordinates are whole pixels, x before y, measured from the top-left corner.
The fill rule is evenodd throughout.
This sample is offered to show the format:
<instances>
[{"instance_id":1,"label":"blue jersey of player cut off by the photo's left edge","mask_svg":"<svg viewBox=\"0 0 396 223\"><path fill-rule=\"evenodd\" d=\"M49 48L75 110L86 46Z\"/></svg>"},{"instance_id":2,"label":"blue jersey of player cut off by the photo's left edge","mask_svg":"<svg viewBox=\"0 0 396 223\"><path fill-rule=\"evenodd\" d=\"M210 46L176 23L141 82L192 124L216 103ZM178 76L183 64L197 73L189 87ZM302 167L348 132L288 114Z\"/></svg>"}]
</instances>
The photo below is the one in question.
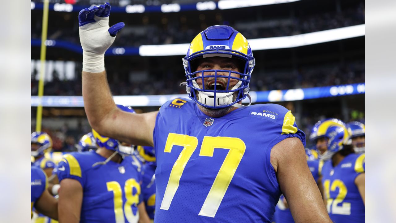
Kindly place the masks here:
<instances>
[{"instance_id":1,"label":"blue jersey of player cut off by the photo's left edge","mask_svg":"<svg viewBox=\"0 0 396 223\"><path fill-rule=\"evenodd\" d=\"M47 189L47 176L39 167L32 166L30 168L30 217L33 217L34 202L40 198L44 190Z\"/></svg>"}]
</instances>

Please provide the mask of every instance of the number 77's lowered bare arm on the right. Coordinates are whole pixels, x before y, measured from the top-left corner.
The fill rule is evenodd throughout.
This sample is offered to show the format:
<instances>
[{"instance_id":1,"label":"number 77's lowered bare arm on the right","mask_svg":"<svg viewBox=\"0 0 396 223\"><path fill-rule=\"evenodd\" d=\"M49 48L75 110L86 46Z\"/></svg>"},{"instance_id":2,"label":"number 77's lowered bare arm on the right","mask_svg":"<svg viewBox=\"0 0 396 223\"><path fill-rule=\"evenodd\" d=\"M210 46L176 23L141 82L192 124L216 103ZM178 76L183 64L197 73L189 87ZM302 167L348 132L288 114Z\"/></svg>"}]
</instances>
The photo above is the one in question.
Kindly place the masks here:
<instances>
[{"instance_id":1,"label":"number 77's lowered bare arm on the right","mask_svg":"<svg viewBox=\"0 0 396 223\"><path fill-rule=\"evenodd\" d=\"M332 222L298 138L276 144L271 150L271 163L295 222Z\"/></svg>"}]
</instances>

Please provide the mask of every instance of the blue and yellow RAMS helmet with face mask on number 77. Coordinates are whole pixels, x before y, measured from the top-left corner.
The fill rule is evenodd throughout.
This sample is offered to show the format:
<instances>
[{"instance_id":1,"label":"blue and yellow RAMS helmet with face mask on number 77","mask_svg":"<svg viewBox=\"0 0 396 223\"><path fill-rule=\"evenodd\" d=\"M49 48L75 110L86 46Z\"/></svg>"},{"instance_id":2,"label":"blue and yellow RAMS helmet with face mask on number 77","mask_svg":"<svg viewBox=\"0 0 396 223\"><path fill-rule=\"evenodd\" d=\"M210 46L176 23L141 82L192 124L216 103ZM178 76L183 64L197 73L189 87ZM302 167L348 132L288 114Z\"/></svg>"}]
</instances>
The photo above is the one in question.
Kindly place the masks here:
<instances>
[{"instance_id":1,"label":"blue and yellow RAMS helmet with face mask on number 77","mask_svg":"<svg viewBox=\"0 0 396 223\"><path fill-rule=\"evenodd\" d=\"M235 61L240 64L240 72L217 69L196 71L198 59L214 56L236 59ZM188 97L206 108L225 108L228 106L240 108L243 106L238 102L246 96L251 102L248 93L250 76L254 66L255 60L251 48L241 33L227 25L209 26L192 40L187 55L183 58L187 80L181 85L186 85ZM214 72L214 75L204 75L205 72ZM217 75L217 72L225 72L228 75ZM233 77L232 73L238 77ZM211 89L212 86L205 89L207 78L214 81L212 85L214 89ZM220 78L228 79L227 86L216 84ZM197 84L197 79L202 79L202 88ZM232 79L238 82L230 89L229 85ZM219 82L221 81L219 80Z\"/></svg>"}]
</instances>

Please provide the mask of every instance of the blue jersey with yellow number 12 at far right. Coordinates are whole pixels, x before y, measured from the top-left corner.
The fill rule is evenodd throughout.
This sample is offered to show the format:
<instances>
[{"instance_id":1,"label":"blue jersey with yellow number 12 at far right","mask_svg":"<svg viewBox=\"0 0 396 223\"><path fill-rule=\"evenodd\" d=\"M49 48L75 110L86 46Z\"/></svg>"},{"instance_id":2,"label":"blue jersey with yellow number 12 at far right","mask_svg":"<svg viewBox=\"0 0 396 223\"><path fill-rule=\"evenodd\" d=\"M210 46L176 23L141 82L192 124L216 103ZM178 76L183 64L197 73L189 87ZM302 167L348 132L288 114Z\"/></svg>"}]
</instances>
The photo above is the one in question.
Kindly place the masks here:
<instances>
[{"instance_id":1,"label":"blue jersey with yellow number 12 at far right","mask_svg":"<svg viewBox=\"0 0 396 223\"><path fill-rule=\"evenodd\" d=\"M365 221L365 208L356 177L366 170L365 154L349 154L333 167L331 160L322 168L322 184L327 211L332 221L353 223Z\"/></svg>"}]
</instances>

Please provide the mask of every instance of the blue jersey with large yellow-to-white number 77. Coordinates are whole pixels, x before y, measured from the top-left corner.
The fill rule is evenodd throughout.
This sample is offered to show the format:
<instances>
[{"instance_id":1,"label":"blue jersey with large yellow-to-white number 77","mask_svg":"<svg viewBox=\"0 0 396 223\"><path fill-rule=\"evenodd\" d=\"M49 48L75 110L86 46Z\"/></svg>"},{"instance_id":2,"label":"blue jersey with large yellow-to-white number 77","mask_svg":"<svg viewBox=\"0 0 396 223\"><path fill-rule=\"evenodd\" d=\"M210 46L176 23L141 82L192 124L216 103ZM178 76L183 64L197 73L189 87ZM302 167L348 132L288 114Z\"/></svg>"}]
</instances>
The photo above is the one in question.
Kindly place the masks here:
<instances>
[{"instance_id":1,"label":"blue jersey with large yellow-to-white number 77","mask_svg":"<svg viewBox=\"0 0 396 223\"><path fill-rule=\"evenodd\" d=\"M289 137L305 143L282 106L211 118L182 98L160 108L153 136L155 222L271 222L281 194L271 148Z\"/></svg>"}]
</instances>

